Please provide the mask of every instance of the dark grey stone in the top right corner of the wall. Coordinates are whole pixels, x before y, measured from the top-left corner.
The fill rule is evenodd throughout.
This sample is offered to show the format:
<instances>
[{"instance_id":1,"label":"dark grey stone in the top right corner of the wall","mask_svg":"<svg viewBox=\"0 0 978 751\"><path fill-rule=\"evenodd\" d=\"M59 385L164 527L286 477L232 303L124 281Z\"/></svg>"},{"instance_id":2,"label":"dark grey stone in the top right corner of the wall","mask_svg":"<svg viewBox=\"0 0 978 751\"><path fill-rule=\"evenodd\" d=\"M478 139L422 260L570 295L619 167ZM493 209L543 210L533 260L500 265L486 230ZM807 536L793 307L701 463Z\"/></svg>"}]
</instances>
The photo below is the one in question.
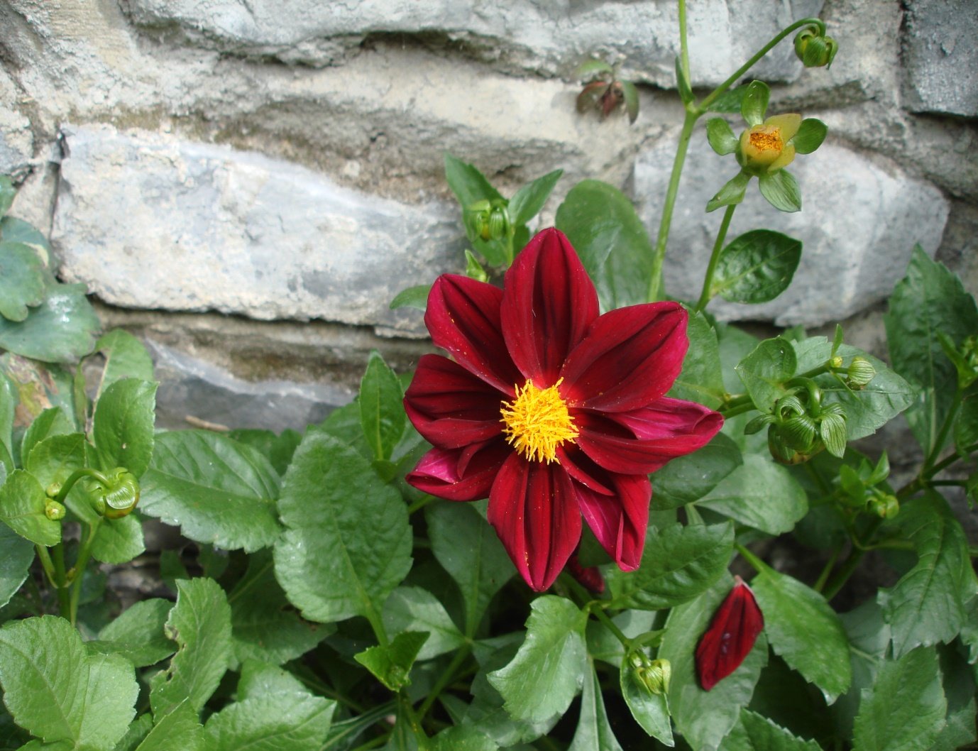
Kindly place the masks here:
<instances>
[{"instance_id":1,"label":"dark grey stone in the top right corner of the wall","mask_svg":"<svg viewBox=\"0 0 978 751\"><path fill-rule=\"evenodd\" d=\"M904 41L909 110L978 117L976 38L978 7L973 0L915 0L909 5Z\"/></svg>"}]
</instances>

